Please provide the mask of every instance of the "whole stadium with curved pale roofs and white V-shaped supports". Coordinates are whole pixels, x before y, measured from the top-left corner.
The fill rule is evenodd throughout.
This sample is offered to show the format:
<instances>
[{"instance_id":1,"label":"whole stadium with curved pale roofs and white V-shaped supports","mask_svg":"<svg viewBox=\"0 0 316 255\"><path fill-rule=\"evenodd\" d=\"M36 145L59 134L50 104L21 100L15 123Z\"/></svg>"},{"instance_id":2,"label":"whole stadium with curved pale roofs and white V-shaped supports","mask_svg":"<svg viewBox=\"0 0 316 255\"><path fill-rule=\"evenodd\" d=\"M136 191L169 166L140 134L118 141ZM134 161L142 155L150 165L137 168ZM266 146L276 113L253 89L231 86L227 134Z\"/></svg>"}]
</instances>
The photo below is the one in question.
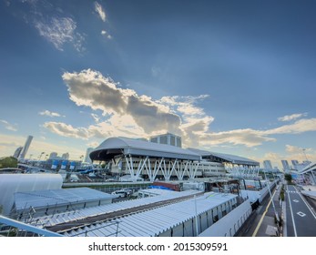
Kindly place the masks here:
<instances>
[{"instance_id":1,"label":"whole stadium with curved pale roofs and white V-shaped supports","mask_svg":"<svg viewBox=\"0 0 316 255\"><path fill-rule=\"evenodd\" d=\"M130 175L135 181L224 176L230 168L253 171L260 165L248 158L131 138L107 138L90 153L90 158L105 162L112 175Z\"/></svg>"}]
</instances>

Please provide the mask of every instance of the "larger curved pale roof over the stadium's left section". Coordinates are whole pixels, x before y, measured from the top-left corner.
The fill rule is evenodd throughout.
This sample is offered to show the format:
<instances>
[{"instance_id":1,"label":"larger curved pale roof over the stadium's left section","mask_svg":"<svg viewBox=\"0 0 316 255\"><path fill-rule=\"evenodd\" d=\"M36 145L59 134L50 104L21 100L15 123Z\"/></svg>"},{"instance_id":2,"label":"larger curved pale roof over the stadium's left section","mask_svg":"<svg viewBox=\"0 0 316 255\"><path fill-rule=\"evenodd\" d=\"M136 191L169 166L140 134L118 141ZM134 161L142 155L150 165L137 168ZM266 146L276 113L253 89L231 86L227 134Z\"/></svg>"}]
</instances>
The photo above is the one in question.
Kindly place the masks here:
<instances>
[{"instance_id":1,"label":"larger curved pale roof over the stadium's left section","mask_svg":"<svg viewBox=\"0 0 316 255\"><path fill-rule=\"evenodd\" d=\"M150 158L200 160L199 154L189 149L131 138L107 138L90 153L90 158L103 161L119 154L148 156Z\"/></svg>"}]
</instances>

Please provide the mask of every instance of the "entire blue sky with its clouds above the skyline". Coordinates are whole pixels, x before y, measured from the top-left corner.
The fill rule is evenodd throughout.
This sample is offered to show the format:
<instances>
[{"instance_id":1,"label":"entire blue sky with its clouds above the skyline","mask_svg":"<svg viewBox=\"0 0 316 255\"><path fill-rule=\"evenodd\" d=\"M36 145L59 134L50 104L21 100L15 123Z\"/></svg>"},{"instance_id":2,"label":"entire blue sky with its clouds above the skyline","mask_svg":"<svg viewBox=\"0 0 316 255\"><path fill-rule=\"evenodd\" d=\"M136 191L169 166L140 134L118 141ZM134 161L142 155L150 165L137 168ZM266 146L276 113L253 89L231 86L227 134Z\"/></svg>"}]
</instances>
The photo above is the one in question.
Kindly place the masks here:
<instances>
[{"instance_id":1,"label":"entire blue sky with its clouds above the skyline","mask_svg":"<svg viewBox=\"0 0 316 255\"><path fill-rule=\"evenodd\" d=\"M314 1L2 1L0 156L113 136L316 160Z\"/></svg>"}]
</instances>

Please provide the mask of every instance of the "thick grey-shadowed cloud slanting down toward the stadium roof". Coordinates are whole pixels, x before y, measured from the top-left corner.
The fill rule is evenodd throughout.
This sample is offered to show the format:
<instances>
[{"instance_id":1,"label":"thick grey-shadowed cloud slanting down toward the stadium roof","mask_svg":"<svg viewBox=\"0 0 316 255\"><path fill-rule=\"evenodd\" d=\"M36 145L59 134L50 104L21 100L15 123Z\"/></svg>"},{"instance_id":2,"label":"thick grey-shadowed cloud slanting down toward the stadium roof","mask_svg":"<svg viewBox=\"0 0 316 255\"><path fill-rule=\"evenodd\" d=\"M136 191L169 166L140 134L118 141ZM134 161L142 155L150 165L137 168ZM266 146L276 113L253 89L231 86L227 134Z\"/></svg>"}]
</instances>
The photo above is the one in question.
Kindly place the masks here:
<instances>
[{"instance_id":1,"label":"thick grey-shadowed cloud slanting down toward the stadium roof","mask_svg":"<svg viewBox=\"0 0 316 255\"><path fill-rule=\"evenodd\" d=\"M181 123L178 115L166 111L150 97L139 97L132 89L117 87L99 72L88 69L65 73L63 79L70 99L77 106L99 109L109 115L130 116L148 134L155 130L175 132Z\"/></svg>"}]
</instances>

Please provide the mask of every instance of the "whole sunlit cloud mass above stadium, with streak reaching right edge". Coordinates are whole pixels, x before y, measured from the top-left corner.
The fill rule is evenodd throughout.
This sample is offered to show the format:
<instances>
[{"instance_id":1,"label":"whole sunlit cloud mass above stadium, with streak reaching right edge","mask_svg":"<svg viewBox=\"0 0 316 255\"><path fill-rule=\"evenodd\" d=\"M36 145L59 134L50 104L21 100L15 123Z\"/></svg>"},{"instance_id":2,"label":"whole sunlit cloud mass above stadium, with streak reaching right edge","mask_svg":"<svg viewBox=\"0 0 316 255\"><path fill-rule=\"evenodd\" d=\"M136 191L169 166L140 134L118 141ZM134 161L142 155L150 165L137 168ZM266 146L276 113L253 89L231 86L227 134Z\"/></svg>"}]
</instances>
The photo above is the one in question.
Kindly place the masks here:
<instances>
[{"instance_id":1,"label":"whole sunlit cloud mass above stadium, with streak reaching right edge","mask_svg":"<svg viewBox=\"0 0 316 255\"><path fill-rule=\"evenodd\" d=\"M92 113L95 124L87 128L46 122L46 128L65 137L148 138L172 132L182 137L184 147L243 145L254 148L262 143L276 141L274 135L316 131L316 118L301 118L292 124L266 130L243 128L212 132L210 126L214 117L199 107L199 103L209 99L209 95L162 97L155 100L146 95L139 96L133 89L122 88L110 77L91 69L78 73L66 72L62 78L69 98L77 106L101 110L103 119L101 121L97 114Z\"/></svg>"}]
</instances>

